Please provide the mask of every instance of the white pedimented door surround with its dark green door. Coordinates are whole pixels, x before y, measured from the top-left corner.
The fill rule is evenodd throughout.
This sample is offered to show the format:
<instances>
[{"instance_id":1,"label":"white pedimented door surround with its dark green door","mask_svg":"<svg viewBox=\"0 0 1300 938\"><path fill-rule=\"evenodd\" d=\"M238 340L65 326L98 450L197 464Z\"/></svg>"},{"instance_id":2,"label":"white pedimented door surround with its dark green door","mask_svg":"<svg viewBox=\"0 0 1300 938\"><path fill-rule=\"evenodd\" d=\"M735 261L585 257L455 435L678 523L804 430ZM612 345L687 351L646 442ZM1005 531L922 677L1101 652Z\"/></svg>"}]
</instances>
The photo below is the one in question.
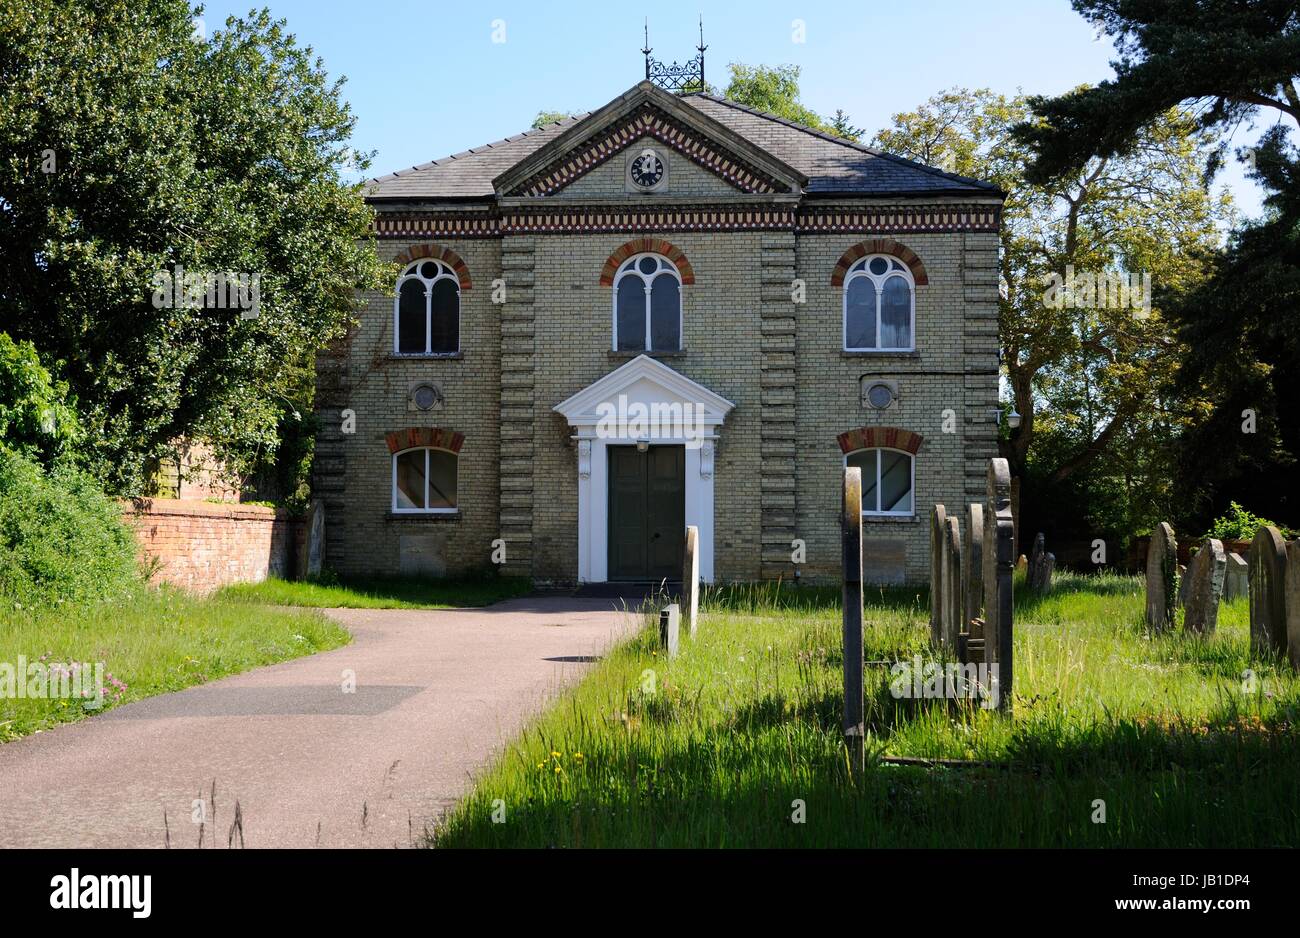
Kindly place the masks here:
<instances>
[{"instance_id":1,"label":"white pedimented door surround with its dark green door","mask_svg":"<svg viewBox=\"0 0 1300 938\"><path fill-rule=\"evenodd\" d=\"M686 525L699 529L699 576L712 582L714 447L733 407L645 355L555 405L577 442L580 582L641 578L633 573L641 569L638 557L650 573L645 578L660 576L672 551L680 556ZM636 470L620 468L634 464L627 459L632 453L663 459L638 483ZM636 508L638 498L645 512ZM645 544L638 546L642 531ZM671 578L680 576L679 563Z\"/></svg>"}]
</instances>

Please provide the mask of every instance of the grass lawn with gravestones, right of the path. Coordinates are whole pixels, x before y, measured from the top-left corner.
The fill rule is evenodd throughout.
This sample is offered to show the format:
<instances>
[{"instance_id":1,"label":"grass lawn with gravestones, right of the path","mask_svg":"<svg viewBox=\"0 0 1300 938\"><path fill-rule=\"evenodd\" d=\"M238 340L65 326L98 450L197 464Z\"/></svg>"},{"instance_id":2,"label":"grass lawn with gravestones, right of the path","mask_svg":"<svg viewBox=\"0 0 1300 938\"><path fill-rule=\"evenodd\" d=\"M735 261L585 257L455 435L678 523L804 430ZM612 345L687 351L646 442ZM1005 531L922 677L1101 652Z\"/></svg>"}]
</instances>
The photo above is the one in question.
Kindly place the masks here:
<instances>
[{"instance_id":1,"label":"grass lawn with gravestones, right of the path","mask_svg":"<svg viewBox=\"0 0 1300 938\"><path fill-rule=\"evenodd\" d=\"M711 591L675 660L647 618L507 747L433 843L1300 844L1300 679L1251 659L1245 600L1222 607L1213 638L1148 638L1139 578L1056 583L1036 598L1017 579L1013 718L896 699L889 668L868 666L858 773L840 737L838 591ZM868 663L933 660L923 592L867 603Z\"/></svg>"}]
</instances>

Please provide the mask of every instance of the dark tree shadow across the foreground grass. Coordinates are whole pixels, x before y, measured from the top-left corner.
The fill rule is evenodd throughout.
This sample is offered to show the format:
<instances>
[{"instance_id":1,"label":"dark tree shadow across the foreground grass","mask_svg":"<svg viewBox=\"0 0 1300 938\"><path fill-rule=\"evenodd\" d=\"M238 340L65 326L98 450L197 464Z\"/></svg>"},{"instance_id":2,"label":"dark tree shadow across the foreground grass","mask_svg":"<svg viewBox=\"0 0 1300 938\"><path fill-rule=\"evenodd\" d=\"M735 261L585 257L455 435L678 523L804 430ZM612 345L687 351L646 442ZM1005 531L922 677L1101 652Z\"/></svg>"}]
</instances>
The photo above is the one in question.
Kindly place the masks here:
<instances>
[{"instance_id":1,"label":"dark tree shadow across the foreground grass","mask_svg":"<svg viewBox=\"0 0 1300 938\"><path fill-rule=\"evenodd\" d=\"M1300 843L1300 739L1100 725L1037 738L1006 767L889 765L850 773L833 700L780 702L703 738L625 735L526 790L476 790L447 847L1280 847ZM1226 715L1225 715L1226 716ZM800 724L810 724L800 726ZM494 799L506 804L493 822ZM1106 822L1096 821L1104 804ZM802 813L800 813L802 811ZM801 820L794 820L796 817Z\"/></svg>"}]
</instances>

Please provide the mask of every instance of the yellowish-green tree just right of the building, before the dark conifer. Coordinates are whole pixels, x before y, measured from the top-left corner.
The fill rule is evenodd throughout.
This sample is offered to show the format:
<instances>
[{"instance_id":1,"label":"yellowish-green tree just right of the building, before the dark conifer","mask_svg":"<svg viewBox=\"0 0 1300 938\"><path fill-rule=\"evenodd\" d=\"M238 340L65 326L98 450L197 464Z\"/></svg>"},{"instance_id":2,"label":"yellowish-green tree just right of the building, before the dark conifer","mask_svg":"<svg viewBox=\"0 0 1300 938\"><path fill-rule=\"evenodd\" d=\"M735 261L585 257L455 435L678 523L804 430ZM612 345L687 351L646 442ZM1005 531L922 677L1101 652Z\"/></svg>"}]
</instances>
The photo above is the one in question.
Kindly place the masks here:
<instances>
[{"instance_id":1,"label":"yellowish-green tree just right of the building, before the dark conifer","mask_svg":"<svg viewBox=\"0 0 1300 938\"><path fill-rule=\"evenodd\" d=\"M874 144L1008 192L998 338L1022 424L1004 453L1031 512L1074 501L1093 526L1131 531L1148 522L1135 512L1169 500L1169 442L1186 420L1170 382L1176 343L1158 303L1057 304L1071 298L1053 295L1053 277L1195 282L1197 248L1217 242L1228 203L1200 173L1212 140L1180 112L1161 114L1126 153L1046 183L1028 181L1032 152L1014 133L1028 117L1023 96L957 88L896 114Z\"/></svg>"}]
</instances>

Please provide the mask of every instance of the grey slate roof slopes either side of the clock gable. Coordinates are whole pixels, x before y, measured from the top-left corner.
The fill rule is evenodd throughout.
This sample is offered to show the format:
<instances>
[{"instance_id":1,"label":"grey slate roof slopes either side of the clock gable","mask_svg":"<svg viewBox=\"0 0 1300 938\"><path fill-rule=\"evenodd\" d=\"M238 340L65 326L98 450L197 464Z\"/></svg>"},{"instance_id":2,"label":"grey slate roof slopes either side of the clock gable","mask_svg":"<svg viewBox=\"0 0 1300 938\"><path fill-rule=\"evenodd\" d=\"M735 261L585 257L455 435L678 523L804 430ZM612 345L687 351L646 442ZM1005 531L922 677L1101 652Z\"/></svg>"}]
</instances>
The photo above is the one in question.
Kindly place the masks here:
<instances>
[{"instance_id":1,"label":"grey slate roof slopes either side of the clock gable","mask_svg":"<svg viewBox=\"0 0 1300 938\"><path fill-rule=\"evenodd\" d=\"M841 140L712 95L680 99L807 177L807 194L1001 196L997 186L945 173L874 147ZM567 117L482 147L391 173L370 182L377 200L474 200L494 196L493 179L588 114Z\"/></svg>"}]
</instances>

